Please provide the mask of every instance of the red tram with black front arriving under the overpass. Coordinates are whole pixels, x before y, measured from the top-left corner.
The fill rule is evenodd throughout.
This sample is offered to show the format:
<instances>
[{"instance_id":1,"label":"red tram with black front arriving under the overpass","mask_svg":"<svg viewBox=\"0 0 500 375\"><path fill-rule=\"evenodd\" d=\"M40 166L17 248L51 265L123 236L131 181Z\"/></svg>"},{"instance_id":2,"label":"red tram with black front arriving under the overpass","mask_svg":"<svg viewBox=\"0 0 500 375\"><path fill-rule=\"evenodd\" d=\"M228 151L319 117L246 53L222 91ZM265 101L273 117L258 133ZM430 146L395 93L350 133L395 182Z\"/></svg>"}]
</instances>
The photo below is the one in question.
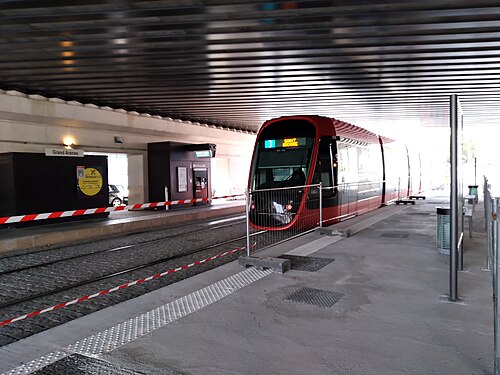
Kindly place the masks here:
<instances>
[{"instance_id":1,"label":"red tram with black front arriving under the overpass","mask_svg":"<svg viewBox=\"0 0 500 375\"><path fill-rule=\"evenodd\" d=\"M375 210L420 192L420 159L389 138L320 116L266 121L250 169L255 228L312 228Z\"/></svg>"}]
</instances>

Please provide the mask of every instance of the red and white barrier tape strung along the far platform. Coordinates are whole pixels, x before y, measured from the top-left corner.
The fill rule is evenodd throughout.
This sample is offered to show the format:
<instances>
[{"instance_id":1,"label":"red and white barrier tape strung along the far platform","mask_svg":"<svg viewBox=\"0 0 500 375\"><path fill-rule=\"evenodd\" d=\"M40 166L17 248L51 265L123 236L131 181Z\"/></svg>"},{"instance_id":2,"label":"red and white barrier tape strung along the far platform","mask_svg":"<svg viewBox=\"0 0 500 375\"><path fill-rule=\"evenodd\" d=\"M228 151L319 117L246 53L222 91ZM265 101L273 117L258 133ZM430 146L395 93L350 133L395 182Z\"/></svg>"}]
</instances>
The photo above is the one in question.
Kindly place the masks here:
<instances>
[{"instance_id":1,"label":"red and white barrier tape strung along the far platform","mask_svg":"<svg viewBox=\"0 0 500 375\"><path fill-rule=\"evenodd\" d=\"M46 212L46 213L41 213L41 214L27 214L27 215L19 215L19 216L5 216L5 217L0 217L0 224L12 224L12 223L21 223L21 222L26 222L26 221L34 221L34 220L46 220L46 219L57 219L57 218L61 218L61 217L102 214L105 212L112 212L112 211L139 210L139 209L144 209L144 208L173 206L176 204L208 202L208 201L211 201L214 199L233 198L233 197L239 197L242 195L244 195L244 194L225 195L222 197L214 197L214 198L210 198L210 199L208 199L208 198L181 199L181 200L177 200L177 201L132 204L132 205L128 205L128 206L118 206L118 207L87 208L87 209L72 210L72 211Z\"/></svg>"}]
</instances>

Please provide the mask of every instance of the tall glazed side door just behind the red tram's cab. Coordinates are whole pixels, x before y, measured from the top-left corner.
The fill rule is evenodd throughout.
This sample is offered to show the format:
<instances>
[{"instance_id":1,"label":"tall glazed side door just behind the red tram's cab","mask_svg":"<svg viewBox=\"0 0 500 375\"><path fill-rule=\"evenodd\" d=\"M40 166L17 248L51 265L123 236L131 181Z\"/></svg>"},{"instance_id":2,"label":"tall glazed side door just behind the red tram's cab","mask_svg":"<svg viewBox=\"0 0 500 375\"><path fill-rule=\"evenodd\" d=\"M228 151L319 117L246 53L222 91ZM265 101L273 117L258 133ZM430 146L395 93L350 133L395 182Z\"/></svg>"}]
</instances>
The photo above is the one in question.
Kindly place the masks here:
<instances>
[{"instance_id":1,"label":"tall glazed side door just behind the red tram's cab","mask_svg":"<svg viewBox=\"0 0 500 375\"><path fill-rule=\"evenodd\" d=\"M338 143L338 185L341 220L356 214L358 209L358 153L355 146Z\"/></svg>"}]
</instances>

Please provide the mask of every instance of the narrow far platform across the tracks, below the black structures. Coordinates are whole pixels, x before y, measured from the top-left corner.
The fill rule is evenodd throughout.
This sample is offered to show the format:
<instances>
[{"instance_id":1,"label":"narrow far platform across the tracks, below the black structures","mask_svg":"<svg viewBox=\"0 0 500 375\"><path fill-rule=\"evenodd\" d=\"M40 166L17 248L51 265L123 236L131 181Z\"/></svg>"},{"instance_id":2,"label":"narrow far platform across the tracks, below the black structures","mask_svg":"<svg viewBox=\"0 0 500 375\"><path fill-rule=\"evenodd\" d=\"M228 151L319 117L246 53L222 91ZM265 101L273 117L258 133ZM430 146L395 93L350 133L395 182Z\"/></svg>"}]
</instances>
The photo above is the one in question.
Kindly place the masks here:
<instances>
[{"instance_id":1,"label":"narrow far platform across the tracks, below the black structures","mask_svg":"<svg viewBox=\"0 0 500 375\"><path fill-rule=\"evenodd\" d=\"M0 254L55 244L137 233L165 225L245 212L242 200L217 201L210 206L179 207L170 210L114 211L107 219L89 219L26 228L0 228Z\"/></svg>"}]
</instances>

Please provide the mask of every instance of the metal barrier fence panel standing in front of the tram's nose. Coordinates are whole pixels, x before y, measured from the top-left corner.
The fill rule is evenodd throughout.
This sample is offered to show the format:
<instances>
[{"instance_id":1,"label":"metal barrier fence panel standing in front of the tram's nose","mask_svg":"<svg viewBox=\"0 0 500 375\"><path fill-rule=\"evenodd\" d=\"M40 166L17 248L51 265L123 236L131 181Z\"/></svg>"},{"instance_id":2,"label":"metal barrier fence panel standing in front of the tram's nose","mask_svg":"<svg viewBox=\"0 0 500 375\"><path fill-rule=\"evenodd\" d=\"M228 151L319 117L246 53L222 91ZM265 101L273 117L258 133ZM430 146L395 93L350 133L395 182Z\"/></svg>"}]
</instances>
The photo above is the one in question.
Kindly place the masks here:
<instances>
[{"instance_id":1,"label":"metal barrier fence panel standing in front of the tram's nose","mask_svg":"<svg viewBox=\"0 0 500 375\"><path fill-rule=\"evenodd\" d=\"M321 226L321 184L246 192L247 255Z\"/></svg>"}]
</instances>

